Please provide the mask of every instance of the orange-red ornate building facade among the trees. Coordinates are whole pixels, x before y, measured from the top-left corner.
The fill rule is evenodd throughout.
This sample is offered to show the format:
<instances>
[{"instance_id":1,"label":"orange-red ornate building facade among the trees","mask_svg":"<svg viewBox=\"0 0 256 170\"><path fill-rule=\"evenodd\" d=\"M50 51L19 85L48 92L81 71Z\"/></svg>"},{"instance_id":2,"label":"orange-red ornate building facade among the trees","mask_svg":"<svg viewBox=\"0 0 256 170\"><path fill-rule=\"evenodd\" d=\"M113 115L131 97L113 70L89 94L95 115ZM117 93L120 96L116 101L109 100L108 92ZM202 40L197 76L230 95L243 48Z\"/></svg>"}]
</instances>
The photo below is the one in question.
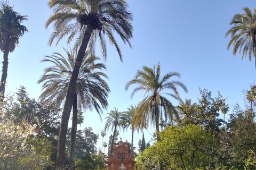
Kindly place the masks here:
<instances>
[{"instance_id":1,"label":"orange-red ornate building facade among the trees","mask_svg":"<svg viewBox=\"0 0 256 170\"><path fill-rule=\"evenodd\" d=\"M108 170L119 170L121 166L121 156L123 157L123 164L126 167L126 170L134 170L135 161L134 161L134 152L133 148L131 151L131 156L128 154L128 143L125 143L123 146L123 141L119 141L119 146L117 143L114 143L113 156L110 156L110 150L108 151Z\"/></svg>"}]
</instances>

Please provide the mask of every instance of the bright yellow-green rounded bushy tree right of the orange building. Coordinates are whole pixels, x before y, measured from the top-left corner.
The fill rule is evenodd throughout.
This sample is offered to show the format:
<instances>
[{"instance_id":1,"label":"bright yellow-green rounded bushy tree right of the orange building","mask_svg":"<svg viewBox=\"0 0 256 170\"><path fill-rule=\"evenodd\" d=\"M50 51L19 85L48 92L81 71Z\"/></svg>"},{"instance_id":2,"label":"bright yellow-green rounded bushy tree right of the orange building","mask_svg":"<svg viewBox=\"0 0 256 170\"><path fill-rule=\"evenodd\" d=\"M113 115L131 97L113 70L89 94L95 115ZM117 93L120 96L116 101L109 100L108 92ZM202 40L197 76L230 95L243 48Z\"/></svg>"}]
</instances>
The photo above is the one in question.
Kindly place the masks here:
<instances>
[{"instance_id":1,"label":"bright yellow-green rounded bushy tree right of the orange building","mask_svg":"<svg viewBox=\"0 0 256 170\"><path fill-rule=\"evenodd\" d=\"M210 133L193 124L183 128L170 126L159 133L159 138L155 146L143 152L145 161L141 169L157 169L158 162L167 169L204 169L217 144Z\"/></svg>"}]
</instances>

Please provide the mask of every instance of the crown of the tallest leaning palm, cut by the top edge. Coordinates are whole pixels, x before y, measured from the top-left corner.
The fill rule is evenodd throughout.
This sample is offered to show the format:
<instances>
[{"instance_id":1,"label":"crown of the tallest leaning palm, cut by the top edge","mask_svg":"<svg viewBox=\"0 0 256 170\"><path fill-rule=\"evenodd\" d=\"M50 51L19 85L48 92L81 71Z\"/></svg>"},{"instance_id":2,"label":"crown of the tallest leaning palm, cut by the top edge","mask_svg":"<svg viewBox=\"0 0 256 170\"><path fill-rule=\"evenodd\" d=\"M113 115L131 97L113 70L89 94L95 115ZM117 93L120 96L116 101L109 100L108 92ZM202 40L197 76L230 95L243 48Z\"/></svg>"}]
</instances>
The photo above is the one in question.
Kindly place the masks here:
<instances>
[{"instance_id":1,"label":"crown of the tallest leaning palm, cut by the top edge","mask_svg":"<svg viewBox=\"0 0 256 170\"><path fill-rule=\"evenodd\" d=\"M115 31L124 43L130 46L132 38L132 14L127 11L127 4L121 0L51 0L50 7L54 7L54 14L47 20L46 27L54 22L55 31L49 40L49 44L57 39L57 44L64 37L68 36L68 44L77 37L75 49L82 44L83 36L88 25L92 26L89 41L89 52L95 55L95 42L97 37L100 40L101 51L107 58L106 38L110 44L114 44L122 61L121 50L113 36Z\"/></svg>"}]
</instances>

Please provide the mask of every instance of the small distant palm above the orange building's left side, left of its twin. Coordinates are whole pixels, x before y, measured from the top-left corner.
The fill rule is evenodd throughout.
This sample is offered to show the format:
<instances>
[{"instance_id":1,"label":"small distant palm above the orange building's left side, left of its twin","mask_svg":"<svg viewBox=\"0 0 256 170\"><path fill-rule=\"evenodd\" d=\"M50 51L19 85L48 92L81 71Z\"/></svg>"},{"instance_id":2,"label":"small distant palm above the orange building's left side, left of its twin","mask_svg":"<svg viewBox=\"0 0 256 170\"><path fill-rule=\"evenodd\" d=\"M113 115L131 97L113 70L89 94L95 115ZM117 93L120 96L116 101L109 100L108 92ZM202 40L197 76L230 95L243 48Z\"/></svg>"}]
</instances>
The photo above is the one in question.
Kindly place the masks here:
<instances>
[{"instance_id":1,"label":"small distant palm above the orange building's left side, left of its twin","mask_svg":"<svg viewBox=\"0 0 256 170\"><path fill-rule=\"evenodd\" d=\"M108 113L107 115L108 116L105 118L107 119L107 122L105 124L105 131L108 130L110 126L111 126L111 131L113 131L113 128L114 128L113 138L111 140L111 146L110 146L110 155L112 155L113 143L116 136L116 128L117 126L120 125L122 112L118 112L118 109L115 108L115 111L111 110L110 113Z\"/></svg>"}]
</instances>

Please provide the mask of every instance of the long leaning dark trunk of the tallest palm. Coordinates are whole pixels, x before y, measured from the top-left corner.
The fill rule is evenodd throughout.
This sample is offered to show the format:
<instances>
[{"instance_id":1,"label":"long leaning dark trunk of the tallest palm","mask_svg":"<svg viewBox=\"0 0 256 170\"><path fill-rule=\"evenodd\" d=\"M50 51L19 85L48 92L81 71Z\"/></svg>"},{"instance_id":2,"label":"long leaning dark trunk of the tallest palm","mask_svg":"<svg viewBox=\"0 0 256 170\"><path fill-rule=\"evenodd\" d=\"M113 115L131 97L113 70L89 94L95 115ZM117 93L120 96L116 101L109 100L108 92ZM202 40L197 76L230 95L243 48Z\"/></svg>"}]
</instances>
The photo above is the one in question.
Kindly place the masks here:
<instances>
[{"instance_id":1,"label":"long leaning dark trunk of the tallest palm","mask_svg":"<svg viewBox=\"0 0 256 170\"><path fill-rule=\"evenodd\" d=\"M66 99L63 105L63 110L61 115L61 125L60 125L60 134L59 134L59 142L58 142L58 155L56 160L57 170L65 169L65 160L66 160L65 145L66 145L66 138L67 138L67 131L68 131L68 121L69 121L69 116L70 116L70 112L71 112L71 108L73 105L73 100L76 92L76 81L77 81L79 69L81 67L81 64L84 58L87 44L91 37L92 28L93 27L91 24L87 25L87 28L85 30L84 37L82 40L82 45L78 50L74 69L68 84Z\"/></svg>"}]
</instances>

